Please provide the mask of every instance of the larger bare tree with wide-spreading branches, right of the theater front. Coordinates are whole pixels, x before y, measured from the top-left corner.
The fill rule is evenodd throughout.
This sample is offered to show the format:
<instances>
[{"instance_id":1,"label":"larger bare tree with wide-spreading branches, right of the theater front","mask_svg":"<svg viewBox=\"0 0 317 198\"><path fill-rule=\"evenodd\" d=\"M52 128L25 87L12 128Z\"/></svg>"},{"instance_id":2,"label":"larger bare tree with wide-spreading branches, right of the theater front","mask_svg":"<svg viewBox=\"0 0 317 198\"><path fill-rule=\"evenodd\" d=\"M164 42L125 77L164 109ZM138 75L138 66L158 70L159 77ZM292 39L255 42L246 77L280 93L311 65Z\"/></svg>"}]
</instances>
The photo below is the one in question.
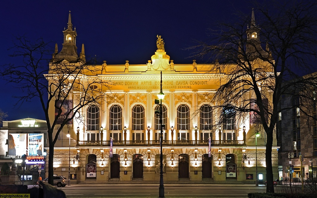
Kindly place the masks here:
<instances>
[{"instance_id":1,"label":"larger bare tree with wide-spreading branches, right of the theater front","mask_svg":"<svg viewBox=\"0 0 317 198\"><path fill-rule=\"evenodd\" d=\"M234 109L241 122L250 112L256 115L255 130L267 135L266 191L274 192L272 145L279 112L284 110L279 102L285 94L313 99L305 93L317 85L316 74L301 76L314 68L317 17L315 2L266 3L255 4L251 17L238 13L238 22L219 23L218 29L211 30L210 41L192 48L197 56L214 60L210 72L220 72L220 86L212 94L217 112Z\"/></svg>"}]
</instances>

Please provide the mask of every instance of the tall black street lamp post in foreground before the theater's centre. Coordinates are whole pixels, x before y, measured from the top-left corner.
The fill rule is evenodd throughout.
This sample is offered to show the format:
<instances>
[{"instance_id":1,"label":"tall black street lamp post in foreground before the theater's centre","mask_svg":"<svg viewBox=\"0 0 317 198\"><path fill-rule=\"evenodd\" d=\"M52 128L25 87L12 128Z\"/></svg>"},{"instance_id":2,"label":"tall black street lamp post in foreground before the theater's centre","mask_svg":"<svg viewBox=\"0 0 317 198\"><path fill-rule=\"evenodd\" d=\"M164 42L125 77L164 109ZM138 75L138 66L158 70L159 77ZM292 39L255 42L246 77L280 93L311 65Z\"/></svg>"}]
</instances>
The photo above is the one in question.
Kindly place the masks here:
<instances>
[{"instance_id":1,"label":"tall black street lamp post in foreground before the theater's centre","mask_svg":"<svg viewBox=\"0 0 317 198\"><path fill-rule=\"evenodd\" d=\"M160 135L160 147L161 147L161 154L160 154L160 179L159 179L159 197L164 197L164 182L163 182L163 148L162 148L162 142L163 142L163 124L162 124L162 115L163 115L163 109L162 109L162 99L164 98L163 90L162 90L162 71L161 71L161 89L160 93L158 95L160 100L160 108L159 108L159 122L160 122L160 129L161 129L161 135ZM156 102L155 102L156 103Z\"/></svg>"}]
</instances>

